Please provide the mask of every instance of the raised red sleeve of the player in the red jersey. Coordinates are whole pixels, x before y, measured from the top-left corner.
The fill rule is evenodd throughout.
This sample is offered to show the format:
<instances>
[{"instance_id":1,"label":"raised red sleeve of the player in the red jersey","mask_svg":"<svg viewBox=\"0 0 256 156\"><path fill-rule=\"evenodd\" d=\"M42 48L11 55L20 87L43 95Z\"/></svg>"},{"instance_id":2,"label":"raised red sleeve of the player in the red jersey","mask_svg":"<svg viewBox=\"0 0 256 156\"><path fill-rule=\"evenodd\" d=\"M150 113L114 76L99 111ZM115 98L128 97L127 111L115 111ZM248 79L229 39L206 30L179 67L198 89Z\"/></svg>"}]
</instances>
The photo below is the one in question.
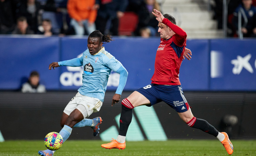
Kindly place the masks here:
<instances>
[{"instance_id":1,"label":"raised red sleeve of the player in the red jersey","mask_svg":"<svg viewBox=\"0 0 256 156\"><path fill-rule=\"evenodd\" d=\"M185 46L187 33L179 26L171 23L168 19L164 18L163 24L167 25L173 32L175 32L174 43L178 46Z\"/></svg>"}]
</instances>

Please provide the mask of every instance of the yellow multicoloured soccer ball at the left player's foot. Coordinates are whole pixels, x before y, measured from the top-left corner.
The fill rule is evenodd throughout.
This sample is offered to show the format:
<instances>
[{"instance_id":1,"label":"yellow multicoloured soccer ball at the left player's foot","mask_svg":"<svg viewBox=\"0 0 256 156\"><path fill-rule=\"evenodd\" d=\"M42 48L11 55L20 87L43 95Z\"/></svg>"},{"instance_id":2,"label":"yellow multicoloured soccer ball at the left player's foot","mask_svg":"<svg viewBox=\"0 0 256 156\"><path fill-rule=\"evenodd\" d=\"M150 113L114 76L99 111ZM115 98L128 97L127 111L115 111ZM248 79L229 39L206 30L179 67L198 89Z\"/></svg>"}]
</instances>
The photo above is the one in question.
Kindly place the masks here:
<instances>
[{"instance_id":1,"label":"yellow multicoloured soccer ball at the left player's foot","mask_svg":"<svg viewBox=\"0 0 256 156\"><path fill-rule=\"evenodd\" d=\"M46 148L52 151L59 150L62 146L63 138L61 134L57 132L50 132L44 138L44 145Z\"/></svg>"}]
</instances>

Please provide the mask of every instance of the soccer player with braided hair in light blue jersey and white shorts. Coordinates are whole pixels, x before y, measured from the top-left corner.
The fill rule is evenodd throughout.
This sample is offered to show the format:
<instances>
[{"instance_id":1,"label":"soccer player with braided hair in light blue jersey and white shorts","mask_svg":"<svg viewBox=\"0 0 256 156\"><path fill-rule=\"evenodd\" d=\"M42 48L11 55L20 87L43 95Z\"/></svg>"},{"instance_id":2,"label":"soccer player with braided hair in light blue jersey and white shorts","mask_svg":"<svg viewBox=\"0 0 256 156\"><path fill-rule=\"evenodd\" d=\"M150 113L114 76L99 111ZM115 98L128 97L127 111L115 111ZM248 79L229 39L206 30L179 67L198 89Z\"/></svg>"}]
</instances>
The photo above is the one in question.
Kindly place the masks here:
<instances>
[{"instance_id":1,"label":"soccer player with braided hair in light blue jersey and white shorts","mask_svg":"<svg viewBox=\"0 0 256 156\"><path fill-rule=\"evenodd\" d=\"M99 133L99 124L102 121L101 117L94 119L86 118L93 112L100 110L111 70L120 74L119 85L112 98L112 105L121 98L128 72L102 46L103 42L112 41L111 38L111 35L102 35L99 30L96 30L89 35L88 49L83 53L82 57L67 61L52 62L49 65L49 70L52 67L55 69L55 67L59 66L79 67L83 65L84 67L83 85L78 89L76 96L67 104L61 118L61 126L63 128L59 133L63 137L63 142L70 136L74 127L91 126L94 136ZM53 153L54 151L48 149L38 152L39 155L43 156L52 156Z\"/></svg>"}]
</instances>

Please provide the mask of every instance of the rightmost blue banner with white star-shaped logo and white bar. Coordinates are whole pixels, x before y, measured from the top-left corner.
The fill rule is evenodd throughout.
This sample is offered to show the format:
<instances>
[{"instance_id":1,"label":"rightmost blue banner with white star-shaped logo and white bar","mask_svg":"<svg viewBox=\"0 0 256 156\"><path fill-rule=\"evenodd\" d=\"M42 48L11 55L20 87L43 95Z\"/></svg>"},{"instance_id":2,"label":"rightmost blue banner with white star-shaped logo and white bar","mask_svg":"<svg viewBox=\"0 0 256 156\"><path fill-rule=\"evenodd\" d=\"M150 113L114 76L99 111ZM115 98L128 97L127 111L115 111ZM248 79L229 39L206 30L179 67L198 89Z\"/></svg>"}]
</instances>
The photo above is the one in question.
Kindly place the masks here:
<instances>
[{"instance_id":1,"label":"rightmost blue banner with white star-shaped logo and white bar","mask_svg":"<svg viewBox=\"0 0 256 156\"><path fill-rule=\"evenodd\" d=\"M256 90L255 39L210 41L211 90Z\"/></svg>"}]
</instances>

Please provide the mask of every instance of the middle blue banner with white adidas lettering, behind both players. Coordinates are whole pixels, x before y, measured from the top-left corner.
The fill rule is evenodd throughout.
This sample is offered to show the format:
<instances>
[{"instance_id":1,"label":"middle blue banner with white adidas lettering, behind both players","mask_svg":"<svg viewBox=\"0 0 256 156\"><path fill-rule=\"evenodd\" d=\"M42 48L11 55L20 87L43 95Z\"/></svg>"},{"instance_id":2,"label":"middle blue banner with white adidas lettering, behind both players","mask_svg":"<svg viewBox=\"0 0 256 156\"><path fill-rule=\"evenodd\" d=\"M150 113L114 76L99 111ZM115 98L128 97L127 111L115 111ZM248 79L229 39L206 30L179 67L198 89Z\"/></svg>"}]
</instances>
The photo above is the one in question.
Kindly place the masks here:
<instances>
[{"instance_id":1,"label":"middle blue banner with white adidas lettering, behind both players","mask_svg":"<svg viewBox=\"0 0 256 156\"><path fill-rule=\"evenodd\" d=\"M119 60L129 72L125 90L136 90L151 83L154 74L156 51L159 38L113 38L114 41L103 44L105 50ZM81 57L87 49L87 38L62 38L61 60ZM188 48L193 59L183 61L180 81L186 90L208 89L209 59L208 40L189 40ZM205 64L204 66L201 66ZM200 70L199 70L200 69ZM191 72L193 74L191 74ZM78 89L82 85L82 67L62 67L61 88ZM107 90L115 90L119 83L119 74L111 72ZM198 85L195 85L198 84Z\"/></svg>"}]
</instances>

